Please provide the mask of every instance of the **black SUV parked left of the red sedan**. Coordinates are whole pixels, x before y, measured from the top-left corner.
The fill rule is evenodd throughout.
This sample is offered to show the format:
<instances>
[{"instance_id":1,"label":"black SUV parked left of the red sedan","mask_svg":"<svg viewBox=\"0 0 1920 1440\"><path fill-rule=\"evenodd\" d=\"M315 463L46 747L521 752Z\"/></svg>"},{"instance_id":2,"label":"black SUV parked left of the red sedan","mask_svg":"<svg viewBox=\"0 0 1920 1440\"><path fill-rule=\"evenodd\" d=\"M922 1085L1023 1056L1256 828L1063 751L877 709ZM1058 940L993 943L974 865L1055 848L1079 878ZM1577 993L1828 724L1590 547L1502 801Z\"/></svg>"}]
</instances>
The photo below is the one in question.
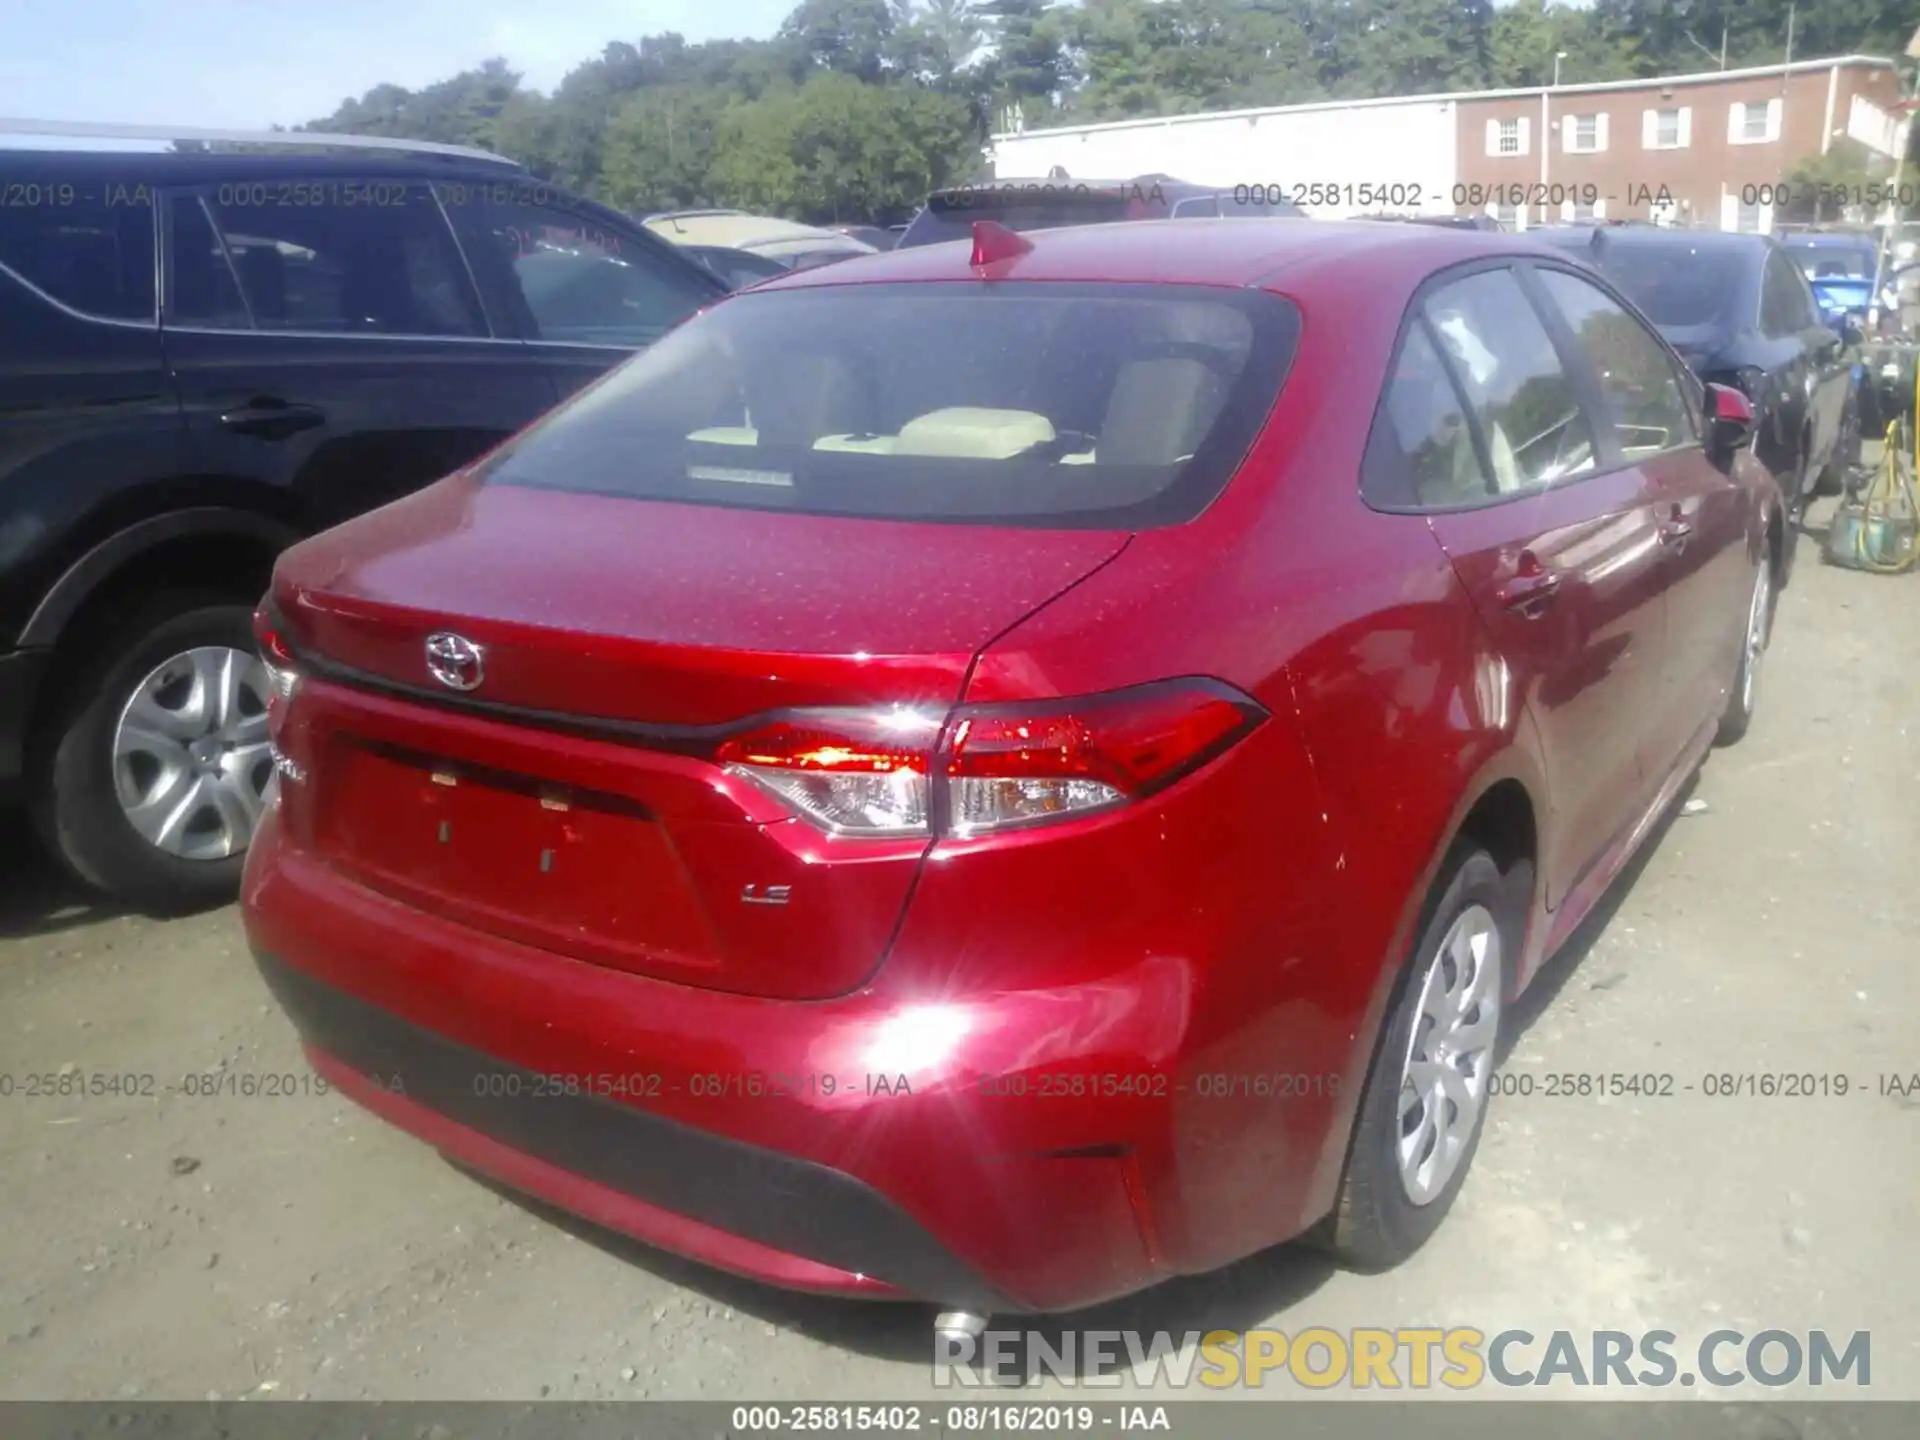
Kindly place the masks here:
<instances>
[{"instance_id":1,"label":"black SUV parked left of the red sedan","mask_svg":"<svg viewBox=\"0 0 1920 1440\"><path fill-rule=\"evenodd\" d=\"M144 908L238 883L278 551L726 294L484 152L280 140L0 150L0 797Z\"/></svg>"}]
</instances>

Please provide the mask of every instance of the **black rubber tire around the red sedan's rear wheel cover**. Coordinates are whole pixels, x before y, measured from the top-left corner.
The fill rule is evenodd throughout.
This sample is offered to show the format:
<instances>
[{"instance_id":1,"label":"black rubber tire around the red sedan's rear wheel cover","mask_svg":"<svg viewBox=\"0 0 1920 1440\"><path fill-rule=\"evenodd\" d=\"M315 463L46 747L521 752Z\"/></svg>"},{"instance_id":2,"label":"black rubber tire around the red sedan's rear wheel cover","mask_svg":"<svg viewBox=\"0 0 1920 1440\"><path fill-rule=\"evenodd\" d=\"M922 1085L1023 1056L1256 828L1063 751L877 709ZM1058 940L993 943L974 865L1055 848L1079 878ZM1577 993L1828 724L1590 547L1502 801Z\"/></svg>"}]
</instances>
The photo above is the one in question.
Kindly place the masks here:
<instances>
[{"instance_id":1,"label":"black rubber tire around the red sedan's rear wheel cover","mask_svg":"<svg viewBox=\"0 0 1920 1440\"><path fill-rule=\"evenodd\" d=\"M1500 1056L1500 1029L1505 1020L1505 989L1511 966L1519 958L1528 902L1526 891L1530 885L1513 883L1515 877L1503 876L1486 851L1467 843L1455 845L1440 876L1438 899L1428 908L1427 924L1421 927L1419 943L1413 948L1413 960L1402 975L1400 989L1375 1048L1373 1068L1367 1073L1367 1089L1361 1094L1359 1114L1354 1121L1354 1142L1348 1150L1346 1173L1340 1177L1338 1200L1332 1213L1313 1236L1321 1248L1356 1269L1388 1269L1427 1244L1428 1236L1440 1229L1440 1221L1446 1219L1453 1198L1467 1181L1467 1173L1473 1169L1473 1156L1480 1148L1480 1133L1486 1125L1488 1100L1492 1098L1492 1069ZM1475 906L1484 908L1492 916L1494 931L1500 937L1500 973L1494 977L1498 1008L1492 1039L1486 1043L1484 1094L1452 1179L1425 1202L1415 1202L1402 1181L1396 1156L1405 1058L1415 1023L1421 1018L1421 995L1427 973L1438 964L1442 941L1446 941L1453 924Z\"/></svg>"}]
</instances>

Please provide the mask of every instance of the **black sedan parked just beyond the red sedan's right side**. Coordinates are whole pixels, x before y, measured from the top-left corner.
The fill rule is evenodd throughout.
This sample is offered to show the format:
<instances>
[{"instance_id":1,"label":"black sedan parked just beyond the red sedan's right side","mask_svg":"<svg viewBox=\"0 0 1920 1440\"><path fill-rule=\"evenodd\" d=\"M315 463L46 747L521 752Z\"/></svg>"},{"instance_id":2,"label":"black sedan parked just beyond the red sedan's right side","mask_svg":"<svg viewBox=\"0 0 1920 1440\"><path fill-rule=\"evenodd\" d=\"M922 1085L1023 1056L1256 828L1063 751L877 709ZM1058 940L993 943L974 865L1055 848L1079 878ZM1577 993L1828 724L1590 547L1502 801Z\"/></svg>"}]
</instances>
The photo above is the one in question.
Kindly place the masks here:
<instances>
[{"instance_id":1,"label":"black sedan parked just beyond the red sedan's right side","mask_svg":"<svg viewBox=\"0 0 1920 1440\"><path fill-rule=\"evenodd\" d=\"M1826 319L1780 244L1653 225L1549 227L1534 236L1588 257L1703 380L1753 401L1753 449L1795 522L1812 495L1839 493L1860 457L1849 334Z\"/></svg>"}]
</instances>

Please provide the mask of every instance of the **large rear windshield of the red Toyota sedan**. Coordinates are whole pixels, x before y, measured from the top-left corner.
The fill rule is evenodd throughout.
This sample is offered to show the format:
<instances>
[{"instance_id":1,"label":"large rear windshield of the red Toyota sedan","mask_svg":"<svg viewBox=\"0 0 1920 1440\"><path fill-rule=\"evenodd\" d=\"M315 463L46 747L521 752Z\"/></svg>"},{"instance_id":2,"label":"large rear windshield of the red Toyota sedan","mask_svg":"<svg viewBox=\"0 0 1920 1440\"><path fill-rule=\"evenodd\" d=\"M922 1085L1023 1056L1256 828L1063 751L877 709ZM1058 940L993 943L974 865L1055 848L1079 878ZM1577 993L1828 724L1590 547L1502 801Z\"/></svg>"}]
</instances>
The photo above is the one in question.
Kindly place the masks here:
<instances>
[{"instance_id":1,"label":"large rear windshield of the red Toyota sedan","mask_svg":"<svg viewBox=\"0 0 1920 1440\"><path fill-rule=\"evenodd\" d=\"M814 515L1144 528L1219 493L1300 319L1139 284L751 290L499 451L488 484Z\"/></svg>"}]
</instances>

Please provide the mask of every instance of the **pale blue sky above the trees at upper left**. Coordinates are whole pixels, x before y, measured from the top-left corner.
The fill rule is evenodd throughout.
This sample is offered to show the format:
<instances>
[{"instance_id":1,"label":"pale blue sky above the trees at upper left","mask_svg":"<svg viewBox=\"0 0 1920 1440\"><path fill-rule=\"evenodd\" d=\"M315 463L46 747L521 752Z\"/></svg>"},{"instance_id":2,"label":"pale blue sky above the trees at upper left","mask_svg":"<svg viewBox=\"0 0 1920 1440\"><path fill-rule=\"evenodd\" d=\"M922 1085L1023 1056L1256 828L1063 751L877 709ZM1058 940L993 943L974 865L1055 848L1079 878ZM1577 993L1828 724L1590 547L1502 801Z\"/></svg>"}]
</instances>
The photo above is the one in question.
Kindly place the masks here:
<instances>
[{"instance_id":1,"label":"pale blue sky above the trees at upper left","mask_svg":"<svg viewBox=\"0 0 1920 1440\"><path fill-rule=\"evenodd\" d=\"M607 40L768 36L793 0L0 0L0 117L265 129L488 56L551 90ZM284 19L282 19L284 17Z\"/></svg>"}]
</instances>

